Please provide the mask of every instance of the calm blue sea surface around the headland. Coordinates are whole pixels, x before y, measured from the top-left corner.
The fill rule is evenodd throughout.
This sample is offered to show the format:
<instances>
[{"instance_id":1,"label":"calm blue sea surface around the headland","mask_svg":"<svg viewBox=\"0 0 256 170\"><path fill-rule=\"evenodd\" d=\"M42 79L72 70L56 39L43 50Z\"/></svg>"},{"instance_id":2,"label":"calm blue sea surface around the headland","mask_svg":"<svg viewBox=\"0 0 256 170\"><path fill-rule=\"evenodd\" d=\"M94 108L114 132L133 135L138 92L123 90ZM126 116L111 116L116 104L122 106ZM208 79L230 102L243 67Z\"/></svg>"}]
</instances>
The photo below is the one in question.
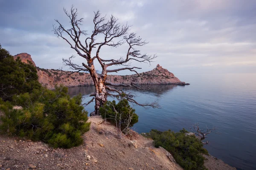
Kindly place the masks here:
<instances>
[{"instance_id":1,"label":"calm blue sea surface around the headland","mask_svg":"<svg viewBox=\"0 0 256 170\"><path fill-rule=\"evenodd\" d=\"M138 133L151 129L179 131L195 122L201 128L218 127L206 146L209 153L241 170L256 170L256 74L177 74L188 86L157 85L140 93L137 101L159 102L160 109L134 106ZM70 88L71 96L91 98L94 87ZM93 111L94 103L85 109Z\"/></svg>"}]
</instances>

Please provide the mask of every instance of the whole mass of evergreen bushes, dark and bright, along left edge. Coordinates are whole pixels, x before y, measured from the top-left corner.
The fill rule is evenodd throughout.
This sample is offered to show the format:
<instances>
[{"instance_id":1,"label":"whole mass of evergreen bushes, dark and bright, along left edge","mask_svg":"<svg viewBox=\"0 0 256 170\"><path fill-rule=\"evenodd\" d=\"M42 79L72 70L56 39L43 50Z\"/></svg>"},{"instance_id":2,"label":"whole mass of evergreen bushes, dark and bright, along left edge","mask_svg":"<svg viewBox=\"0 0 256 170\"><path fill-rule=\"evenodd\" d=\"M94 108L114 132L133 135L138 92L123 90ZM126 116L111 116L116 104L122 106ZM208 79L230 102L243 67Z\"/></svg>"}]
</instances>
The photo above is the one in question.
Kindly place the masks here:
<instances>
[{"instance_id":1,"label":"whole mass of evergreen bushes, dark and bright, along left edge","mask_svg":"<svg viewBox=\"0 0 256 170\"><path fill-rule=\"evenodd\" d=\"M83 142L81 135L90 128L87 119L81 95L71 98L67 87L42 87L32 64L15 61L0 47L1 133L70 148Z\"/></svg>"}]
</instances>

